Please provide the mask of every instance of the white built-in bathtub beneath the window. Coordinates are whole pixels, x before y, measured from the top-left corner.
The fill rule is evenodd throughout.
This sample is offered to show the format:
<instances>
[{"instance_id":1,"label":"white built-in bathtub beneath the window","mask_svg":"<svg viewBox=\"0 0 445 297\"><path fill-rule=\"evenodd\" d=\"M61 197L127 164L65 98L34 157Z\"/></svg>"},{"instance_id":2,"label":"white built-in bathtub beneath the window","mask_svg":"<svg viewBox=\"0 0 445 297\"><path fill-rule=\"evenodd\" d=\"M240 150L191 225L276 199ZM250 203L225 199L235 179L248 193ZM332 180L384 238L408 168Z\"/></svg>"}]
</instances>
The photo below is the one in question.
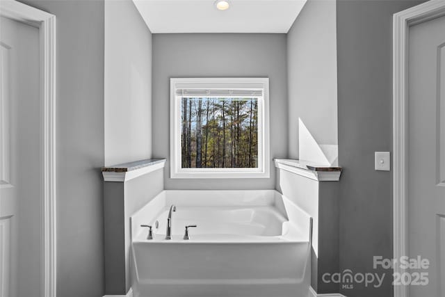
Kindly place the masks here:
<instances>
[{"instance_id":1,"label":"white built-in bathtub beneath the window","mask_svg":"<svg viewBox=\"0 0 445 297\"><path fill-rule=\"evenodd\" d=\"M131 216L133 296L305 297L311 227L277 191L163 191Z\"/></svg>"}]
</instances>

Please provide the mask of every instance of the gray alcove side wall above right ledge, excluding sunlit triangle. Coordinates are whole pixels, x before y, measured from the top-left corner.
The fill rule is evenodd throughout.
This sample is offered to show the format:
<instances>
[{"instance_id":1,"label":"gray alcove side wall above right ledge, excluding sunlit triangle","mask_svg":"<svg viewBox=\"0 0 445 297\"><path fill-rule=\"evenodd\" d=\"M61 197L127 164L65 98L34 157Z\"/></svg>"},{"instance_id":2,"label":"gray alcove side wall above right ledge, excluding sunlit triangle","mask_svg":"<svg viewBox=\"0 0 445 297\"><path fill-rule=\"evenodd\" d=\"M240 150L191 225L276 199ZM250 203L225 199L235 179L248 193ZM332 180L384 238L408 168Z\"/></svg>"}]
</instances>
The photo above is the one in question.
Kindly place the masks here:
<instances>
[{"instance_id":1,"label":"gray alcove side wall above right ledge, excluding sunlit triangle","mask_svg":"<svg viewBox=\"0 0 445 297\"><path fill-rule=\"evenodd\" d=\"M298 118L318 144L337 145L336 5L307 1L287 34L292 159L298 159Z\"/></svg>"}]
</instances>

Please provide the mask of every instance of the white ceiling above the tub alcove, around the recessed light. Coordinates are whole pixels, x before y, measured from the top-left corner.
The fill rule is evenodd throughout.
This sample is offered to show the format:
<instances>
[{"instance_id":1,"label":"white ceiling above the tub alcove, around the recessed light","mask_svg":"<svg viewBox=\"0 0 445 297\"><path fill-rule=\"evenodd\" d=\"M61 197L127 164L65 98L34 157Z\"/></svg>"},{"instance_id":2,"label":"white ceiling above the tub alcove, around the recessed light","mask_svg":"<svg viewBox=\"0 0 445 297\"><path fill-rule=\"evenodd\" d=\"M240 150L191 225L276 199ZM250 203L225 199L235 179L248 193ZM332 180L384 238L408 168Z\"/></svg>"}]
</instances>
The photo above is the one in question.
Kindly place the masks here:
<instances>
[{"instance_id":1,"label":"white ceiling above the tub alcove, around the recessed light","mask_svg":"<svg viewBox=\"0 0 445 297\"><path fill-rule=\"evenodd\" d=\"M133 0L152 33L287 33L306 0Z\"/></svg>"}]
</instances>

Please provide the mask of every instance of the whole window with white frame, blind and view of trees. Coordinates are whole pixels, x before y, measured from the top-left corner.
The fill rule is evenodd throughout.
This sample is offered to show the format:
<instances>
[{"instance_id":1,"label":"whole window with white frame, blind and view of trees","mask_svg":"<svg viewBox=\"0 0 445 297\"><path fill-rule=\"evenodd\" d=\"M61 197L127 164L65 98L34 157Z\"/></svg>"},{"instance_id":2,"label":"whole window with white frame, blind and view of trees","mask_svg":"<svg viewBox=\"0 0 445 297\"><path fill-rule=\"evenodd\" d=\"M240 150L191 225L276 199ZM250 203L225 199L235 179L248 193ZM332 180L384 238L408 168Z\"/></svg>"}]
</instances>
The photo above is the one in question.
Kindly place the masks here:
<instances>
[{"instance_id":1,"label":"whole window with white frame, blind and view of trees","mask_svg":"<svg viewBox=\"0 0 445 297\"><path fill-rule=\"evenodd\" d=\"M268 79L170 79L170 177L269 177Z\"/></svg>"}]
</instances>

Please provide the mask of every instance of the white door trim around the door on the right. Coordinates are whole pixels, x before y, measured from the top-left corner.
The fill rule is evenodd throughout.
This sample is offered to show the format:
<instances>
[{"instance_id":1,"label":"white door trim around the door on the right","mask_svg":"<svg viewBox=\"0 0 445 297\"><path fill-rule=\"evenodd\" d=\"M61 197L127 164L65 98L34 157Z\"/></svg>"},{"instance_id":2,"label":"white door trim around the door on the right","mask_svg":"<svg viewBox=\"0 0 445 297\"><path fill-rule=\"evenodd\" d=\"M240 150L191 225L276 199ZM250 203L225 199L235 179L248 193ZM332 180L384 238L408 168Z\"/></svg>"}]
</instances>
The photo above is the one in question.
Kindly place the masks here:
<instances>
[{"instance_id":1,"label":"white door trim around the door on the right","mask_svg":"<svg viewBox=\"0 0 445 297\"><path fill-rule=\"evenodd\" d=\"M408 33L410 26L445 15L445 1L432 0L393 17L393 150L394 150L394 258L408 255L407 141L408 141ZM394 273L403 273L397 265ZM394 286L394 297L408 297L409 286Z\"/></svg>"}]
</instances>

